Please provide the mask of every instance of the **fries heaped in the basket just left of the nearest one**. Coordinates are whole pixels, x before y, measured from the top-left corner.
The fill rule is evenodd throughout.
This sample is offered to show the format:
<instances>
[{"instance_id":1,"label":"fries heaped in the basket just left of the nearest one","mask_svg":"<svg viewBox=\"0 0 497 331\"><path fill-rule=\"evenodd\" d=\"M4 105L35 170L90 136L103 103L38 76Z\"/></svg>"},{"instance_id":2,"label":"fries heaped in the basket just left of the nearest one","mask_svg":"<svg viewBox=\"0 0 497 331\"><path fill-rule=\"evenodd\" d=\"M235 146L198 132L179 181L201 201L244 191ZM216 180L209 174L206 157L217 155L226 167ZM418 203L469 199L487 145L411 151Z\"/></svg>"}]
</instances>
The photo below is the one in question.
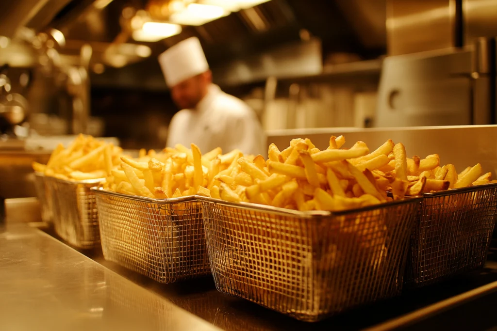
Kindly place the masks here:
<instances>
[{"instance_id":1,"label":"fries heaped in the basket just left of the nearest one","mask_svg":"<svg viewBox=\"0 0 497 331\"><path fill-rule=\"evenodd\" d=\"M242 155L239 150L221 153L218 147L202 155L195 144L191 149L178 144L161 153L141 150L136 160L121 157L119 167L106 178L104 189L151 199L210 197L214 177Z\"/></svg>"}]
</instances>

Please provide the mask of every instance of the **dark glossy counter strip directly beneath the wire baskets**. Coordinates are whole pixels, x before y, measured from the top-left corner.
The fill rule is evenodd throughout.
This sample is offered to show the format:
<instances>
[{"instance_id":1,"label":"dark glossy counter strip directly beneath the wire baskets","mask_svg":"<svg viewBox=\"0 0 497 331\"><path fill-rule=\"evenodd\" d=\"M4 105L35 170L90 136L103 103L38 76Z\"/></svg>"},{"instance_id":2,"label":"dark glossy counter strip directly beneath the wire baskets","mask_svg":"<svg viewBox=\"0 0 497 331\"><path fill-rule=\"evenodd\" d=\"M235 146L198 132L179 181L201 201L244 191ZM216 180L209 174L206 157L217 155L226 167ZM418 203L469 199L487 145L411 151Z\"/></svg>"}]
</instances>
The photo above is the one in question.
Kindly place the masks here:
<instances>
[{"instance_id":1,"label":"dark glossy counter strip directly beneath the wire baskets","mask_svg":"<svg viewBox=\"0 0 497 331\"><path fill-rule=\"evenodd\" d=\"M497 240L493 241L492 247L494 248L491 249L489 260L481 270L469 272L421 289L406 290L399 297L352 309L318 323L300 322L247 300L222 294L216 290L212 277L160 284L115 263L105 261L101 250L88 251L84 252L84 254L99 264L167 298L178 307L223 330L339 331L362 330L373 327L441 300L497 281ZM452 316L452 319L456 320L454 316ZM470 326L476 326L473 319L465 322L469 323ZM471 329L470 327L468 328ZM461 330L464 330L464 328Z\"/></svg>"}]
</instances>

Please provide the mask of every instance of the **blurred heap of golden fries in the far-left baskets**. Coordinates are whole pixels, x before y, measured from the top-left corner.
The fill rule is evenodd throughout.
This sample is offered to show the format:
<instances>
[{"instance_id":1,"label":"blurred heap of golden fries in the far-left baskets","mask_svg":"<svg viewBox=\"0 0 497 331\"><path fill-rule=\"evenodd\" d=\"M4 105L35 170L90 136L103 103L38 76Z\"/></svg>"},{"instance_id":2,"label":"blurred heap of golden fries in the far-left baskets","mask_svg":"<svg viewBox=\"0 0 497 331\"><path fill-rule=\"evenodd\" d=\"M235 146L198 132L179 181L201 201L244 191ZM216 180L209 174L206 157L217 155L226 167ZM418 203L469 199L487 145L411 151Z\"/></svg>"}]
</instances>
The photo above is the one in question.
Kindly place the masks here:
<instances>
[{"instance_id":1,"label":"blurred heap of golden fries in the far-left baskets","mask_svg":"<svg viewBox=\"0 0 497 331\"><path fill-rule=\"evenodd\" d=\"M107 177L120 163L122 149L112 143L80 134L69 146L59 144L46 165L33 162L34 171L69 181Z\"/></svg>"}]
</instances>

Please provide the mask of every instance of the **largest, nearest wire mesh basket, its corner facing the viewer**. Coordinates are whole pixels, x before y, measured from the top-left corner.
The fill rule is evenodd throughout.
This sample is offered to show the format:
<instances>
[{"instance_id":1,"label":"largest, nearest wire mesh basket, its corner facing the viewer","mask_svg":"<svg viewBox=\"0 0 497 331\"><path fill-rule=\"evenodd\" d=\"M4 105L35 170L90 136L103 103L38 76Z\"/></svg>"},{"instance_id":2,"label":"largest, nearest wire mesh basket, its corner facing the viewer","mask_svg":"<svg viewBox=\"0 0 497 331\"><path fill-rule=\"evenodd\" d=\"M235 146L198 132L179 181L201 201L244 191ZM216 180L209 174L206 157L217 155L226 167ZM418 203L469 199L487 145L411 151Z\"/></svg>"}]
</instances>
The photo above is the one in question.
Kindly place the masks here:
<instances>
[{"instance_id":1,"label":"largest, nearest wire mesh basket, its corner facing the viewer","mask_svg":"<svg viewBox=\"0 0 497 331\"><path fill-rule=\"evenodd\" d=\"M223 293L314 322L402 289L419 198L337 213L198 199Z\"/></svg>"}]
</instances>

